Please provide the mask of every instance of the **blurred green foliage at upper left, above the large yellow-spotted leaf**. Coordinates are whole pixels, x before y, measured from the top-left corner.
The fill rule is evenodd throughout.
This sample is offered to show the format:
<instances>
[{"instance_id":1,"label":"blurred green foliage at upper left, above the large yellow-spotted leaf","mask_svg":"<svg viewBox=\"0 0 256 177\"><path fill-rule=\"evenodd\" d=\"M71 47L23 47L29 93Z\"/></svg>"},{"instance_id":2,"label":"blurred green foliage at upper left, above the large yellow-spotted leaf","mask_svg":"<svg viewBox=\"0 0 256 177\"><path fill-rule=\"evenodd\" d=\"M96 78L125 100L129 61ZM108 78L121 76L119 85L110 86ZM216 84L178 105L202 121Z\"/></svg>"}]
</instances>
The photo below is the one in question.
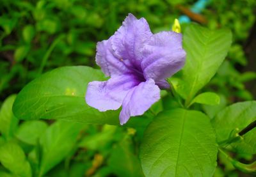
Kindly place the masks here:
<instances>
[{"instance_id":1,"label":"blurred green foliage at upper left, above the large yellow-spotted leaf","mask_svg":"<svg viewBox=\"0 0 256 177\"><path fill-rule=\"evenodd\" d=\"M145 17L153 31L170 30L179 15L171 3L157 0L3 0L0 11L0 98L52 68L95 66L96 43L129 12Z\"/></svg>"}]
</instances>

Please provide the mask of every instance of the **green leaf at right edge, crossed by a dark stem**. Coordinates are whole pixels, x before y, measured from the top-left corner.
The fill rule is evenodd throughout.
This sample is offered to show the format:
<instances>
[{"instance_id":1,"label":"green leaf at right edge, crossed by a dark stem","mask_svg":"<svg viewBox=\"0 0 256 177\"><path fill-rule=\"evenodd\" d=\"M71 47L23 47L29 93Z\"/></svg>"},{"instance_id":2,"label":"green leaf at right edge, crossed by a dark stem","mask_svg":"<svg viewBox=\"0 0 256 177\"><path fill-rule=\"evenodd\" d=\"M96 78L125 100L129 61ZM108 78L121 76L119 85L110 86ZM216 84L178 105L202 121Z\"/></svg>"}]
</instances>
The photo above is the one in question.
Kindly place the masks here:
<instances>
[{"instance_id":1,"label":"green leaf at right edge, crossed by a dark stem","mask_svg":"<svg viewBox=\"0 0 256 177\"><path fill-rule=\"evenodd\" d=\"M240 132L256 120L256 101L240 102L223 109L212 119L218 143L230 139L234 132ZM239 153L256 153L256 128L243 135L243 139L230 144Z\"/></svg>"}]
</instances>

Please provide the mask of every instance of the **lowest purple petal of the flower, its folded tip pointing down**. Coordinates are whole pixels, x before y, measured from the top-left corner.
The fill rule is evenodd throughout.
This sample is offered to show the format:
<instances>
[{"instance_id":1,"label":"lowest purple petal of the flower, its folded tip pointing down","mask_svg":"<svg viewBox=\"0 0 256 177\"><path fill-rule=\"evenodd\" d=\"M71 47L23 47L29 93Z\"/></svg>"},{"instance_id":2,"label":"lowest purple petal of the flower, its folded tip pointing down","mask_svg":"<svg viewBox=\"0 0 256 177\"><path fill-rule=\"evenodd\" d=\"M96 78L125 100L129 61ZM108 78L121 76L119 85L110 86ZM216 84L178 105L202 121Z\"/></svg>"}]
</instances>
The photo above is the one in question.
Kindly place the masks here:
<instances>
[{"instance_id":1,"label":"lowest purple petal of the flower, its folded tip pointing down","mask_svg":"<svg viewBox=\"0 0 256 177\"><path fill-rule=\"evenodd\" d=\"M160 89L153 79L141 82L127 93L122 103L120 124L124 125L131 116L140 116L160 99Z\"/></svg>"}]
</instances>

